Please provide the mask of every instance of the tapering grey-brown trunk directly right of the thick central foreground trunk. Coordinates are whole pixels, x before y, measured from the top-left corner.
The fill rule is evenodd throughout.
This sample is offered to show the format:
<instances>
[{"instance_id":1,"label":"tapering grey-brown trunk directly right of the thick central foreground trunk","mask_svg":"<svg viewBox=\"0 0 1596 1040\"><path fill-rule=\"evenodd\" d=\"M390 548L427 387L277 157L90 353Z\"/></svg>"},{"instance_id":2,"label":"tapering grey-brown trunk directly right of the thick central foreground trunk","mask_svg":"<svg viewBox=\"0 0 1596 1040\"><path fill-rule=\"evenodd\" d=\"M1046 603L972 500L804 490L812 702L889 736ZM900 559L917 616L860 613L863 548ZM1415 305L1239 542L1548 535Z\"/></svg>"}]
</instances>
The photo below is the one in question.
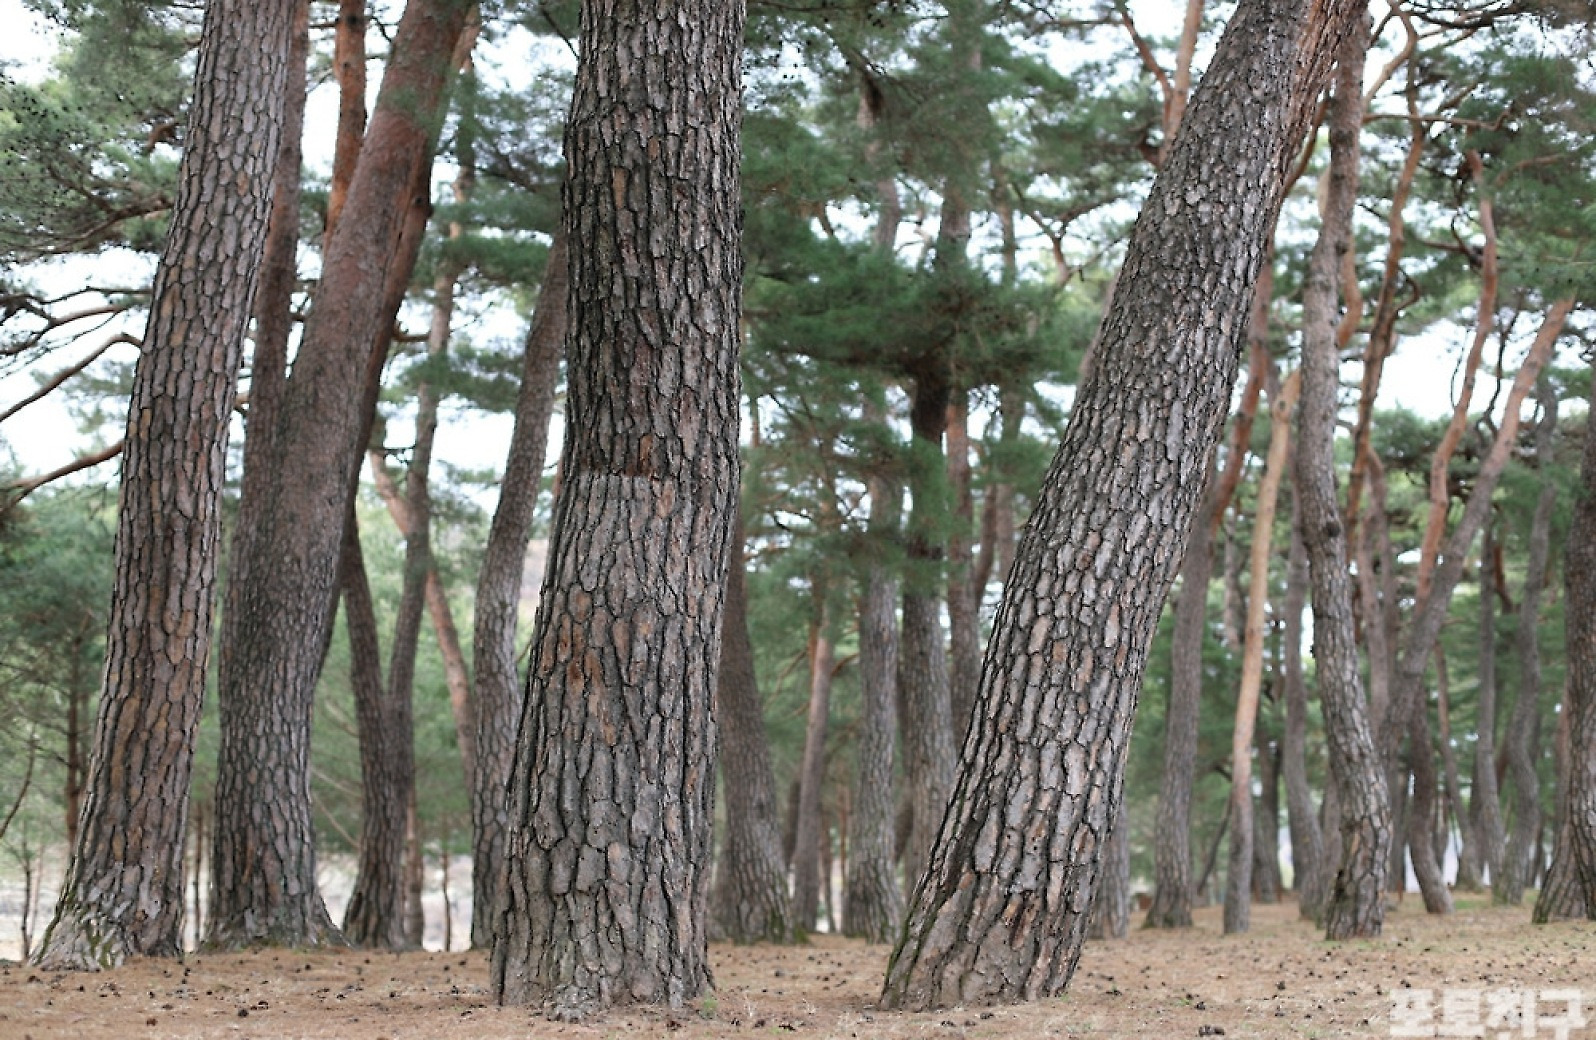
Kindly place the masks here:
<instances>
[{"instance_id":1,"label":"tapering grey-brown trunk directly right of the thick central foreground trunk","mask_svg":"<svg viewBox=\"0 0 1596 1040\"><path fill-rule=\"evenodd\" d=\"M741 530L741 523L737 525ZM720 769L726 791L726 841L715 879L715 924L733 943L792 943L792 900L782 855L776 777L764 737L764 708L749 638L742 542L733 546L715 683ZM891 764L891 759L889 759ZM889 786L891 796L891 774Z\"/></svg>"}]
</instances>

